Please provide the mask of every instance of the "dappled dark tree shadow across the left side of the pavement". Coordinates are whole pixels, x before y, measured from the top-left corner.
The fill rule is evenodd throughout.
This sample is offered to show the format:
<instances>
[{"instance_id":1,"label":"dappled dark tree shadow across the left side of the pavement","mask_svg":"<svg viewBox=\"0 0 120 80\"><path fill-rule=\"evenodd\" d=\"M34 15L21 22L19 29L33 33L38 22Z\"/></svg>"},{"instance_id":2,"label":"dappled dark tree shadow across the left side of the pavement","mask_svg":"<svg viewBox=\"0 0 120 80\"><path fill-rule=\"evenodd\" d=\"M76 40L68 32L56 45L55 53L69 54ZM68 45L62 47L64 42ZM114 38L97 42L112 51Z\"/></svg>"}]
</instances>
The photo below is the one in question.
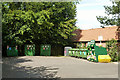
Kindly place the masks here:
<instances>
[{"instance_id":1,"label":"dappled dark tree shadow across the left side of the pavement","mask_svg":"<svg viewBox=\"0 0 120 80\"><path fill-rule=\"evenodd\" d=\"M54 78L60 79L57 76L59 68L53 68L50 66L40 67L27 67L20 66L18 63L32 62L29 59L22 59L19 57L7 57L3 58L2 64L2 76L3 78Z\"/></svg>"}]
</instances>

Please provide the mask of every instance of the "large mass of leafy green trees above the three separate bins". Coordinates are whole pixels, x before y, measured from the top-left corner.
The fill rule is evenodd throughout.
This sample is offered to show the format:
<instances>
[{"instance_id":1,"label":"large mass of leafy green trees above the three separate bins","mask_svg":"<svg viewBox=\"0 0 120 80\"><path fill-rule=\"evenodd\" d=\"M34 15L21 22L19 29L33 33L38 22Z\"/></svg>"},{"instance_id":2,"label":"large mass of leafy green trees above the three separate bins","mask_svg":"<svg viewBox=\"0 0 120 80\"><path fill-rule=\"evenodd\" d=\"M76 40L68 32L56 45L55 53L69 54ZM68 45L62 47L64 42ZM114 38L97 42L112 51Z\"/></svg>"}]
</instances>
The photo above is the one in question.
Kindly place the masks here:
<instances>
[{"instance_id":1,"label":"large mass of leafy green trees above the three separate bins","mask_svg":"<svg viewBox=\"0 0 120 80\"><path fill-rule=\"evenodd\" d=\"M3 44L70 43L76 28L74 2L3 2Z\"/></svg>"}]
</instances>

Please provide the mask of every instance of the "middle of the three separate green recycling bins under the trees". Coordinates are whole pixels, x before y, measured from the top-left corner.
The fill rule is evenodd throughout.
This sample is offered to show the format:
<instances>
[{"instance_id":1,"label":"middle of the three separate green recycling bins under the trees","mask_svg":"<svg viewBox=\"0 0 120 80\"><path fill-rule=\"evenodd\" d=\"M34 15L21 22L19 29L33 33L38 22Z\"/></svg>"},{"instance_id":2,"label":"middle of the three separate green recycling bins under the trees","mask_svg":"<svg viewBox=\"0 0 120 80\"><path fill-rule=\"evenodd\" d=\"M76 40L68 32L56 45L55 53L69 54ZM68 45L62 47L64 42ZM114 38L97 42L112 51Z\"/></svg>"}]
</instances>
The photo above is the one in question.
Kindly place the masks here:
<instances>
[{"instance_id":1,"label":"middle of the three separate green recycling bins under the trees","mask_svg":"<svg viewBox=\"0 0 120 80\"><path fill-rule=\"evenodd\" d=\"M35 55L35 45L25 45L25 55L34 56Z\"/></svg>"}]
</instances>

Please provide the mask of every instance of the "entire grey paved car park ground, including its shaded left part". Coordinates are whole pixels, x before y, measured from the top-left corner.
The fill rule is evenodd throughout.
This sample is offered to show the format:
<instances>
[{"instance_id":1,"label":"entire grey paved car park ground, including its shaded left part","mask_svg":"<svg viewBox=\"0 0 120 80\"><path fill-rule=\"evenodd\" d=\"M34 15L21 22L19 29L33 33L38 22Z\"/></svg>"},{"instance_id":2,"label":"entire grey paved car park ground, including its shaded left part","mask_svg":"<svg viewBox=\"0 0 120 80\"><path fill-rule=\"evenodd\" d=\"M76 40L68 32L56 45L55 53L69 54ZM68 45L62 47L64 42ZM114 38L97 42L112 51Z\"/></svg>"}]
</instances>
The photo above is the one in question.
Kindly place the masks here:
<instances>
[{"instance_id":1,"label":"entire grey paved car park ground, including its shaded left part","mask_svg":"<svg viewBox=\"0 0 120 80\"><path fill-rule=\"evenodd\" d=\"M74 57L7 57L2 68L3 78L118 78L117 63Z\"/></svg>"}]
</instances>

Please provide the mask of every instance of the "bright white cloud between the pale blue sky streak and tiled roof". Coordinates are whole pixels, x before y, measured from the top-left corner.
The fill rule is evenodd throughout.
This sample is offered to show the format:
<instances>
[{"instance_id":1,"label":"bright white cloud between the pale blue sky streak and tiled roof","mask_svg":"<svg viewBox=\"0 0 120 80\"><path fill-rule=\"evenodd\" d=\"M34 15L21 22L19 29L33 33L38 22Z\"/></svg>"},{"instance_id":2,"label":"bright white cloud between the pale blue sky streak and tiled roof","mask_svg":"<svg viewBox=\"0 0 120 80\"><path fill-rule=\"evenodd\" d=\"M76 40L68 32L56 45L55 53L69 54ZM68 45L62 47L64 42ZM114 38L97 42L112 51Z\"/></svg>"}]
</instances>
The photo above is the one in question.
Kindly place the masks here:
<instances>
[{"instance_id":1,"label":"bright white cloud between the pale blue sky streak and tiled roof","mask_svg":"<svg viewBox=\"0 0 120 80\"><path fill-rule=\"evenodd\" d=\"M76 25L80 29L91 29L100 27L100 23L97 21L96 16L105 16L104 10L81 10L77 12Z\"/></svg>"}]
</instances>

